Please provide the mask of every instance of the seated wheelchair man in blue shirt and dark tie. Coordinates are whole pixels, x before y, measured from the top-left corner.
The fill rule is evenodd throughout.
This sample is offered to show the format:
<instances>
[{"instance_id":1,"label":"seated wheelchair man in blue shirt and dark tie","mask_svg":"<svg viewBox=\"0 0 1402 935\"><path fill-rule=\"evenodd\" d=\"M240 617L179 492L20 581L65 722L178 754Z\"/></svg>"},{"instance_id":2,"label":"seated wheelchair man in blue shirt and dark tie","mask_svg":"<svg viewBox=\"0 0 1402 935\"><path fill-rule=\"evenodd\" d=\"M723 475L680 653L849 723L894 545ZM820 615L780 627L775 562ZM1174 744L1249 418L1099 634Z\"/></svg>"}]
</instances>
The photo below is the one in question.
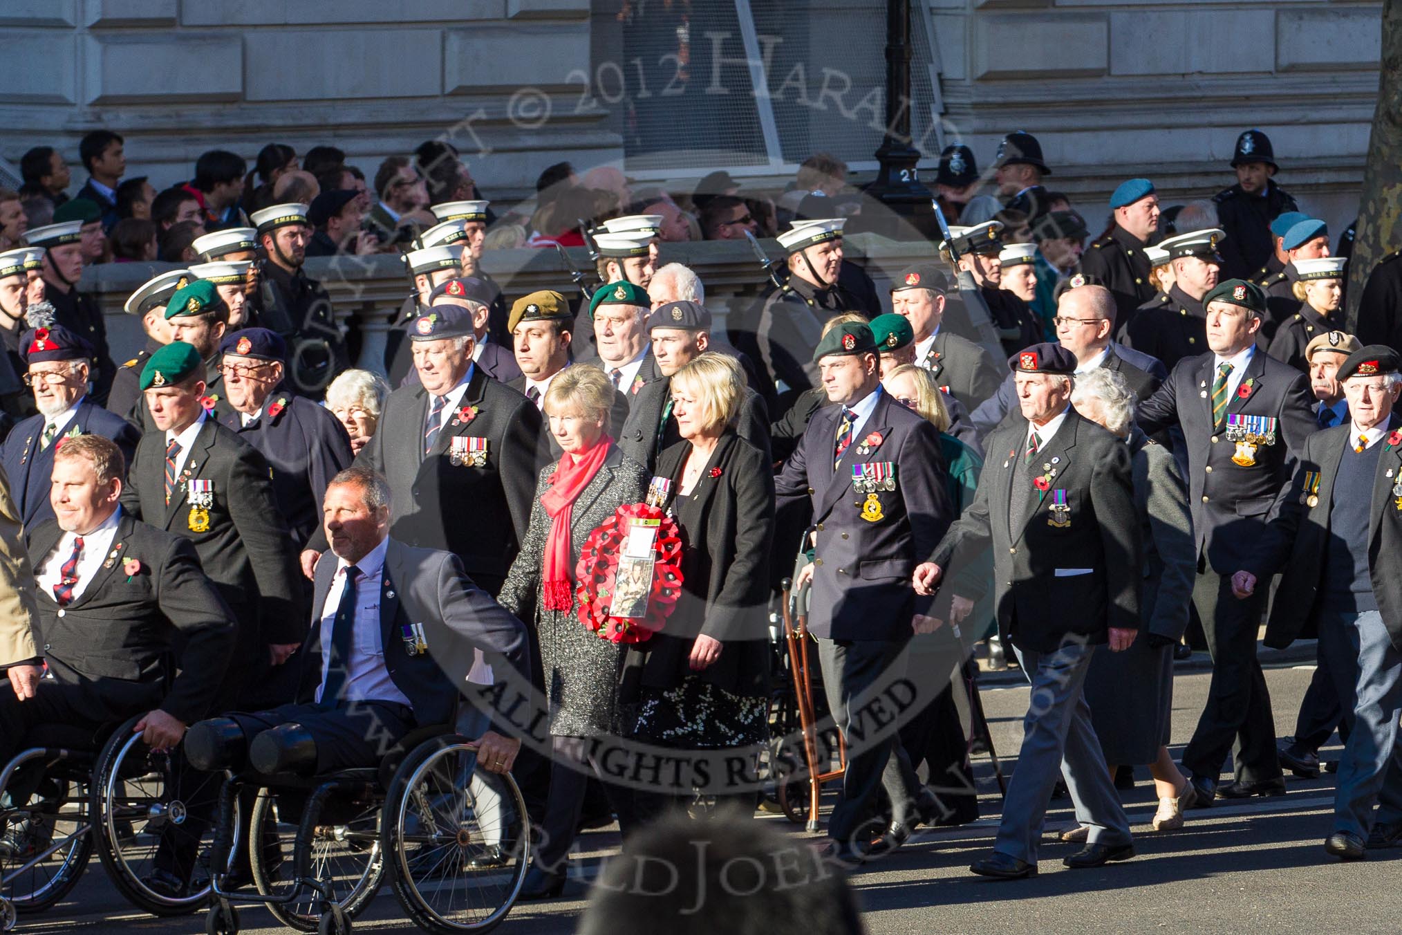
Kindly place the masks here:
<instances>
[{"instance_id":1,"label":"seated wheelchair man in blue shirt and dark tie","mask_svg":"<svg viewBox=\"0 0 1402 935\"><path fill-rule=\"evenodd\" d=\"M526 627L458 558L388 537L390 486L380 474L336 474L322 520L335 561L317 562L299 699L192 726L185 756L198 770L310 777L377 767L409 730L453 722L475 650L529 680ZM519 739L485 730L477 763L508 772L519 750Z\"/></svg>"}]
</instances>

